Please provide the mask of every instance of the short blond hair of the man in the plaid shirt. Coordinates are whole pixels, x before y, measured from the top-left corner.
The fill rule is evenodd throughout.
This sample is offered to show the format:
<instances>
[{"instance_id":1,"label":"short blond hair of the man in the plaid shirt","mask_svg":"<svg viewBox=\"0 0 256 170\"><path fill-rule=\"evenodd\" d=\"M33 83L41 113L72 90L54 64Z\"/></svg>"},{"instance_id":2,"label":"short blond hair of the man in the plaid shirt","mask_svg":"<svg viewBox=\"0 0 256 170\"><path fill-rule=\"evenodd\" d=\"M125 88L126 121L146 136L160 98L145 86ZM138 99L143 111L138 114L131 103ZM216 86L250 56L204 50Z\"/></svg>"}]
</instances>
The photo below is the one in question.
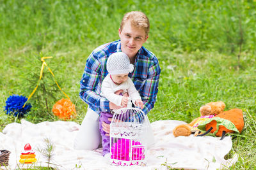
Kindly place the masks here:
<instances>
[{"instance_id":1,"label":"short blond hair of the man in the plaid shirt","mask_svg":"<svg viewBox=\"0 0 256 170\"><path fill-rule=\"evenodd\" d=\"M144 29L146 36L149 32L149 20L147 15L141 11L131 11L129 13L125 13L122 22L120 24L120 30L122 31L124 24L130 21L132 26Z\"/></svg>"}]
</instances>

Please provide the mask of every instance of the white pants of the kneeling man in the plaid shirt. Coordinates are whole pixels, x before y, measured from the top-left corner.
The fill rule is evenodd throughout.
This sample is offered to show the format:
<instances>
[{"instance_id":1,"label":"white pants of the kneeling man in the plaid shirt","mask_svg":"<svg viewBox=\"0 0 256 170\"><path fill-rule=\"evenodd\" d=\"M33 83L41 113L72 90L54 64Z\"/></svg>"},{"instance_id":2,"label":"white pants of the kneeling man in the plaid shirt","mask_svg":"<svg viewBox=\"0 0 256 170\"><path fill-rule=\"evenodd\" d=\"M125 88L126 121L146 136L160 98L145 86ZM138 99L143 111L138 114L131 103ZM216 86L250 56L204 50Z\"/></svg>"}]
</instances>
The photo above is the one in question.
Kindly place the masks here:
<instances>
[{"instance_id":1,"label":"white pants of the kneeling man in the plaid shirt","mask_svg":"<svg viewBox=\"0 0 256 170\"><path fill-rule=\"evenodd\" d=\"M148 119L148 117L146 116ZM149 122L149 121L148 121ZM150 126L147 131L147 146L154 143L154 134ZM95 150L101 143L99 131L99 115L88 107L84 120L77 132L74 140L74 148L76 150Z\"/></svg>"}]
</instances>

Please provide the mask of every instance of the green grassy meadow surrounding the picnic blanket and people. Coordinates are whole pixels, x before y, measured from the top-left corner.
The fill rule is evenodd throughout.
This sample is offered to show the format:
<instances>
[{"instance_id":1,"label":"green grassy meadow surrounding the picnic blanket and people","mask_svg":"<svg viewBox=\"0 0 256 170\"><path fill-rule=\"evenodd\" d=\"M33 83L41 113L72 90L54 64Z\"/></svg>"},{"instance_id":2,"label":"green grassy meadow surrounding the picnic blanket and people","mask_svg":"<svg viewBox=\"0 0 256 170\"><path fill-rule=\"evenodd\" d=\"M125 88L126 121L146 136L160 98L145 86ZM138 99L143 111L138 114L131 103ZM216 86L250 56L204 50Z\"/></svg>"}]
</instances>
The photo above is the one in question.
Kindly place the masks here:
<instances>
[{"instance_id":1,"label":"green grassy meadow surrounding the picnic blanket and people","mask_svg":"<svg viewBox=\"0 0 256 170\"><path fill-rule=\"evenodd\" d=\"M232 169L256 169L256 1L4 1L0 0L0 106L12 94L28 97L36 86L41 56L79 114L79 80L94 48L118 39L125 12L150 19L145 47L161 66L157 102L148 117L190 122L210 101L241 108L245 127L227 155L239 155ZM46 90L46 92L44 91ZM26 120L58 120L51 108L63 94L47 69ZM47 106L45 105L47 99ZM0 129L15 121L0 110ZM19 119L16 120L19 122Z\"/></svg>"}]
</instances>

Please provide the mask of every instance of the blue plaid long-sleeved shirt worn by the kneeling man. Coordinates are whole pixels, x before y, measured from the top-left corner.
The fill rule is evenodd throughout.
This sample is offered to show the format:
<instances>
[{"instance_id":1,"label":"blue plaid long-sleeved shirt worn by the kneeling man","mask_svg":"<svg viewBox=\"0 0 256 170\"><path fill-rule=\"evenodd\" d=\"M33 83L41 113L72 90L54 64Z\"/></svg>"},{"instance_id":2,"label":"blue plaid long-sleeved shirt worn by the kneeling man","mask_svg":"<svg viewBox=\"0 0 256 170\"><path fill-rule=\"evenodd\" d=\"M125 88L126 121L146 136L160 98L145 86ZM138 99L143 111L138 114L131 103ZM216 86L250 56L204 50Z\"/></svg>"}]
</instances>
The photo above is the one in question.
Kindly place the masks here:
<instances>
[{"instance_id":1,"label":"blue plaid long-sleeved shirt worn by the kneeling man","mask_svg":"<svg viewBox=\"0 0 256 170\"><path fill-rule=\"evenodd\" d=\"M110 111L109 101L100 96L100 89L102 80L108 74L106 69L107 59L111 53L115 52L122 52L120 40L99 46L93 50L86 60L86 66L80 81L79 96L97 113ZM156 56L142 46L136 55L134 71L129 73L128 76L140 93L145 105L143 108L145 114L154 107L156 102L160 72L161 69Z\"/></svg>"}]
</instances>

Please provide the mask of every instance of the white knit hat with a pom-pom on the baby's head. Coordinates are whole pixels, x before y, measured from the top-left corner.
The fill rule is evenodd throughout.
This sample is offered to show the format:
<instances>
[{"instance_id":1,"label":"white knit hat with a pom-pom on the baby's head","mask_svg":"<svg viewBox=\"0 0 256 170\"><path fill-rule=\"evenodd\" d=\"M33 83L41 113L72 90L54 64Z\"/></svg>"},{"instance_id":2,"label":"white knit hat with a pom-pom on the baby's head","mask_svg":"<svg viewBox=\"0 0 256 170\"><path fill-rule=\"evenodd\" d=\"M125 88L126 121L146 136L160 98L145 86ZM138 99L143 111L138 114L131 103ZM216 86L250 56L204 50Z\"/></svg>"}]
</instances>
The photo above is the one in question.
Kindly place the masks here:
<instances>
[{"instance_id":1,"label":"white knit hat with a pom-pom on the baby's head","mask_svg":"<svg viewBox=\"0 0 256 170\"><path fill-rule=\"evenodd\" d=\"M112 53L107 60L107 70L109 74L131 73L134 69L130 64L129 57L123 52Z\"/></svg>"}]
</instances>

